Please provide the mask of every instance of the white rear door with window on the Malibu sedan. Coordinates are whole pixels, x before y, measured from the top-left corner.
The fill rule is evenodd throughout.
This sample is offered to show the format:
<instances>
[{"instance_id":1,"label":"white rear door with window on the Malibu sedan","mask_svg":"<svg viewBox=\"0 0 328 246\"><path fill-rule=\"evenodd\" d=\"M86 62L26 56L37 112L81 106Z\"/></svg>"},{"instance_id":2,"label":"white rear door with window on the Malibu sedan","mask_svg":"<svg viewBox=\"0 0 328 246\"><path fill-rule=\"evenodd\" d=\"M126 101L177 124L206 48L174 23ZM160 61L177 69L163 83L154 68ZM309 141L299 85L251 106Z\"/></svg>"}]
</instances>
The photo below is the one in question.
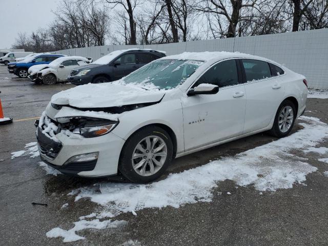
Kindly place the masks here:
<instances>
[{"instance_id":1,"label":"white rear door with window on the Malibu sedan","mask_svg":"<svg viewBox=\"0 0 328 246\"><path fill-rule=\"evenodd\" d=\"M268 127L282 101L284 88L267 61L241 59L247 94L244 133Z\"/></svg>"}]
</instances>

